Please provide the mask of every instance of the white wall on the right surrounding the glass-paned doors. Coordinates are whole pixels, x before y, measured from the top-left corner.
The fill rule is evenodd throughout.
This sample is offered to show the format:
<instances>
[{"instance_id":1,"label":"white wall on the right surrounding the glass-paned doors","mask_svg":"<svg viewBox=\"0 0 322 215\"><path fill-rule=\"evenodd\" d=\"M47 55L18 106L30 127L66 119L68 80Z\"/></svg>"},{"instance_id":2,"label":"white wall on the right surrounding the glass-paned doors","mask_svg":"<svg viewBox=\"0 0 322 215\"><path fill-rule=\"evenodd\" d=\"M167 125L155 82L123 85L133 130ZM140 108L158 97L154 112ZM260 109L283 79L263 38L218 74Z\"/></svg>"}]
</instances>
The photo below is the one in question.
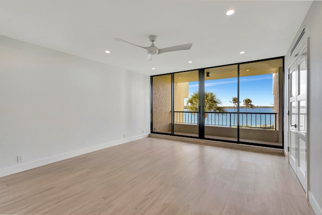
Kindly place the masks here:
<instances>
[{"instance_id":1,"label":"white wall on the right surrounding the glass-paned doors","mask_svg":"<svg viewBox=\"0 0 322 215\"><path fill-rule=\"evenodd\" d=\"M307 37L308 44L308 195L309 201L316 214L322 214L322 2L313 1L298 34L295 36L297 40L299 33L305 27L305 35L301 40L297 49L304 46ZM294 46L293 41L290 50L285 57L285 80L287 80L287 68L294 60L290 56L291 48ZM295 52L296 53L296 52ZM285 82L286 83L286 82ZM287 84L285 84L285 93L287 92ZM287 94L285 94L287 95ZM287 96L285 96L285 110L287 111ZM284 118L284 143L287 147L287 115Z\"/></svg>"}]
</instances>

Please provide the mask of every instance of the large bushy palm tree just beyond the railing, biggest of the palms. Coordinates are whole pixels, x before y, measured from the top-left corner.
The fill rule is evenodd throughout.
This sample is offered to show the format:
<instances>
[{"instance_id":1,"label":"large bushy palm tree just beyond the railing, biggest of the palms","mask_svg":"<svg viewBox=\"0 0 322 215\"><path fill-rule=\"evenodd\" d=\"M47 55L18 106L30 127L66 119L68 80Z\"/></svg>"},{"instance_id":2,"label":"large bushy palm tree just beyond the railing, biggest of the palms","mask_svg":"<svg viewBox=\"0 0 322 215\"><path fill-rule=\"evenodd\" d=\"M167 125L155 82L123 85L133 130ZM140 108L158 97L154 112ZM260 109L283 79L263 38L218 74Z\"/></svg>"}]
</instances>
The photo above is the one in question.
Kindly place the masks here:
<instances>
[{"instance_id":1,"label":"large bushy palm tree just beyond the railing, biggest of the palms","mask_svg":"<svg viewBox=\"0 0 322 215\"><path fill-rule=\"evenodd\" d=\"M205 91L205 112L227 112L221 106L221 100L213 93ZM199 109L199 92L193 92L187 100L187 109L197 112ZM205 118L207 114L205 114Z\"/></svg>"}]
</instances>

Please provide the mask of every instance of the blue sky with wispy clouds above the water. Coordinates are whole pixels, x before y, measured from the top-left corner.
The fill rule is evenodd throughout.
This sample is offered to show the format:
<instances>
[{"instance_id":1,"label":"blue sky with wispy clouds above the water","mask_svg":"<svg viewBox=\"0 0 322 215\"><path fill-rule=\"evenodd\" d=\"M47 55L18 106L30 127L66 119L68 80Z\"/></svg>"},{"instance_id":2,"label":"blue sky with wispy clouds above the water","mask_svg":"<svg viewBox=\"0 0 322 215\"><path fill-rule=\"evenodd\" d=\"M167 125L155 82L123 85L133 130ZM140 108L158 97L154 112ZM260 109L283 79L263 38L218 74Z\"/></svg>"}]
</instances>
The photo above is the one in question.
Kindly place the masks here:
<instances>
[{"instance_id":1,"label":"blue sky with wispy clouds above the water","mask_svg":"<svg viewBox=\"0 0 322 215\"><path fill-rule=\"evenodd\" d=\"M273 75L253 75L240 77L240 101L250 98L255 106L272 106ZM198 81L189 82L189 95L198 91ZM224 78L205 81L205 91L211 91L221 99L222 106L232 106L232 97L237 97L237 78ZM186 104L186 103L185 103Z\"/></svg>"}]
</instances>

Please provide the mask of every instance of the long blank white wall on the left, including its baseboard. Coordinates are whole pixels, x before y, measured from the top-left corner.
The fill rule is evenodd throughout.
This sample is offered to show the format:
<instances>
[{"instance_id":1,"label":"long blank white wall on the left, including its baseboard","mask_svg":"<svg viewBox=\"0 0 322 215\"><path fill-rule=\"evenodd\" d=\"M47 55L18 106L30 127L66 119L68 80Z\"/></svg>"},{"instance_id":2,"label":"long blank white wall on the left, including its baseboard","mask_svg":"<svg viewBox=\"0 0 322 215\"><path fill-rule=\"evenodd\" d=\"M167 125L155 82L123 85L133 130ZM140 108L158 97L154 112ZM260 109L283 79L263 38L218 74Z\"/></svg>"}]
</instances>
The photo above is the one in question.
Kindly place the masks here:
<instances>
[{"instance_id":1,"label":"long blank white wall on the left, including its baseboard","mask_svg":"<svg viewBox=\"0 0 322 215\"><path fill-rule=\"evenodd\" d=\"M146 137L149 80L0 36L0 177Z\"/></svg>"}]
</instances>

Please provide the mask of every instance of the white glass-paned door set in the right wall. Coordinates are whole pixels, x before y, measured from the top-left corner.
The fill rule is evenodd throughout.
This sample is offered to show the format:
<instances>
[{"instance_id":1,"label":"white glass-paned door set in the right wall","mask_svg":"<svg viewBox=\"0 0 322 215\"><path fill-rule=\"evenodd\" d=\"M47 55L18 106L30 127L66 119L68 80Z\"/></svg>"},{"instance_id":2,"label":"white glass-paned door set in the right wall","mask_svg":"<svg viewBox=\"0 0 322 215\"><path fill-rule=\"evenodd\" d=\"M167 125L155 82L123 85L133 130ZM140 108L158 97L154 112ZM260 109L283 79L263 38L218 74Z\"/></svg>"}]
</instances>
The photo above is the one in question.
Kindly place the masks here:
<instances>
[{"instance_id":1,"label":"white glass-paned door set in the right wall","mask_svg":"<svg viewBox=\"0 0 322 215\"><path fill-rule=\"evenodd\" d=\"M288 146L289 163L307 191L307 70L306 48L289 67Z\"/></svg>"}]
</instances>

